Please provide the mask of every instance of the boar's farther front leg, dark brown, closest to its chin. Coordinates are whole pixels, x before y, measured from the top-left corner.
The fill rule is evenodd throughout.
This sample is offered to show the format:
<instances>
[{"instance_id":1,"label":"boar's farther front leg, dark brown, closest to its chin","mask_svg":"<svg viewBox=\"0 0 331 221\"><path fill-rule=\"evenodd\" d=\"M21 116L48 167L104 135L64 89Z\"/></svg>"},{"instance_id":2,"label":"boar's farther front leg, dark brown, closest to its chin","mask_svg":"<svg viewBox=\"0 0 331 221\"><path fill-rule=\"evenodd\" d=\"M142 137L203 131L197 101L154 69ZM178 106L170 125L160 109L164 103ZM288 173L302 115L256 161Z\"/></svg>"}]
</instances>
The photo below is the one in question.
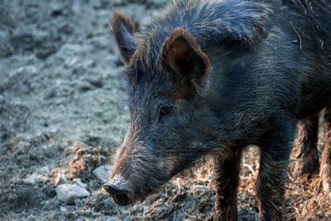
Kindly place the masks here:
<instances>
[{"instance_id":1,"label":"boar's farther front leg, dark brown, closest to its chin","mask_svg":"<svg viewBox=\"0 0 331 221\"><path fill-rule=\"evenodd\" d=\"M237 187L241 159L242 148L231 152L226 159L222 156L214 157L216 201L212 220L237 220Z\"/></svg>"}]
</instances>

